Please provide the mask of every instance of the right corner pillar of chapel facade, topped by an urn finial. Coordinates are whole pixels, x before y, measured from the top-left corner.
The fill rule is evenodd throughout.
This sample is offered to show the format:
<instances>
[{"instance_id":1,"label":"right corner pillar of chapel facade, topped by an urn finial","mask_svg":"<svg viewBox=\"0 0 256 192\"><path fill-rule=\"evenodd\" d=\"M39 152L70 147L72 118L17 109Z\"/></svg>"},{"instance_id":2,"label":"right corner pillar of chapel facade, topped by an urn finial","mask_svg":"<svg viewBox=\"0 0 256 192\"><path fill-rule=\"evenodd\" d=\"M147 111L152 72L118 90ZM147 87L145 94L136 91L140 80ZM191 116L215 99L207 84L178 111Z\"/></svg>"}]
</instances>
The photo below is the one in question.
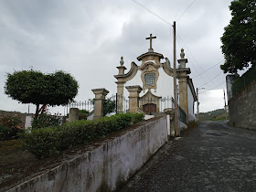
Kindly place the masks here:
<instances>
[{"instance_id":1,"label":"right corner pillar of chapel facade, topped by an urn finial","mask_svg":"<svg viewBox=\"0 0 256 192\"><path fill-rule=\"evenodd\" d=\"M188 123L188 101L187 101L187 68L186 63L187 59L184 59L185 53L184 49L181 49L180 53L181 59L178 59L178 91L179 91L179 106L186 112L187 114L187 123Z\"/></svg>"}]
</instances>

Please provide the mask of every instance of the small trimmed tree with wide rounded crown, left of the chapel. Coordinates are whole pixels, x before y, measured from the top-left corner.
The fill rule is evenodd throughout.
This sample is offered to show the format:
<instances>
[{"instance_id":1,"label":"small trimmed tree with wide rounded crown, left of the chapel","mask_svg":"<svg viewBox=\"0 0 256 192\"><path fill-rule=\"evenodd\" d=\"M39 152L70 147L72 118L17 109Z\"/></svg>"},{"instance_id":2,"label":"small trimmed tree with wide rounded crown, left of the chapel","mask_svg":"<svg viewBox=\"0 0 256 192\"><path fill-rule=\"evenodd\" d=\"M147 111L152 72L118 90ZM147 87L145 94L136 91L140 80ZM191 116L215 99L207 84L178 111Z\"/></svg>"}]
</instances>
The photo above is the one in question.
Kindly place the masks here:
<instances>
[{"instance_id":1,"label":"small trimmed tree with wide rounded crown, left of the chapel","mask_svg":"<svg viewBox=\"0 0 256 192\"><path fill-rule=\"evenodd\" d=\"M77 80L61 70L52 74L33 69L20 70L7 73L5 81L5 94L22 103L37 105L35 119L47 105L65 105L73 101L78 88Z\"/></svg>"}]
</instances>

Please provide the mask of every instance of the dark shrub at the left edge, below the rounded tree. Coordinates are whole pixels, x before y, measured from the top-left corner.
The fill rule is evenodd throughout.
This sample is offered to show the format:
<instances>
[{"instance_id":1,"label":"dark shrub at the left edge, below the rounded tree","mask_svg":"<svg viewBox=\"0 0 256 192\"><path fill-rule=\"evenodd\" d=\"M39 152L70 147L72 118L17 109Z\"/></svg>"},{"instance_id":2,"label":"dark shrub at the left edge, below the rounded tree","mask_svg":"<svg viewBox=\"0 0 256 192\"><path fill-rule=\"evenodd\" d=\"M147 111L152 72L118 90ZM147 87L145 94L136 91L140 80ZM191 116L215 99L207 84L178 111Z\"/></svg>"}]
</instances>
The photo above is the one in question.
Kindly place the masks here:
<instances>
[{"instance_id":1,"label":"dark shrub at the left edge, below the rounded tree","mask_svg":"<svg viewBox=\"0 0 256 192\"><path fill-rule=\"evenodd\" d=\"M17 139L24 131L19 116L0 116L0 141Z\"/></svg>"}]
</instances>

